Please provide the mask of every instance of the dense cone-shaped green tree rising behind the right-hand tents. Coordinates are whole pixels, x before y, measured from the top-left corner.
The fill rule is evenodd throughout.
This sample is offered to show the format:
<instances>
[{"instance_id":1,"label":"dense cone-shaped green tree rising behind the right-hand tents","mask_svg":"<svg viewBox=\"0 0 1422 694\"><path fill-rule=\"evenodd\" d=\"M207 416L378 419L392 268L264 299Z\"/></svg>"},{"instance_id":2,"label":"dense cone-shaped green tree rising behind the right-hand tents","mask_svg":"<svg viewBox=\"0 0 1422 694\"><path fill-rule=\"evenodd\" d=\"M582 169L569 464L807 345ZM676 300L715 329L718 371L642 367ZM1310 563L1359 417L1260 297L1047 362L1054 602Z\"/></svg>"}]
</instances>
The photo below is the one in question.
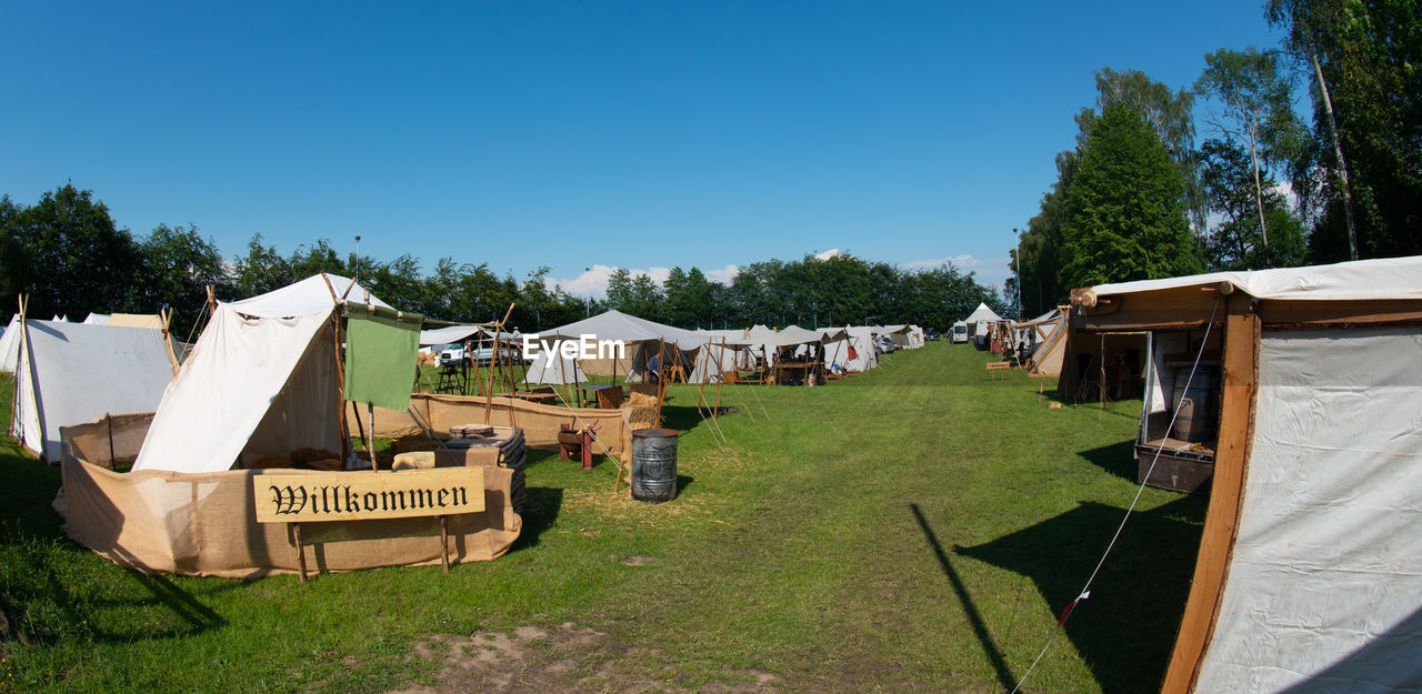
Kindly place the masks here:
<instances>
[{"instance_id":1,"label":"dense cone-shaped green tree rising behind the right-hand tents","mask_svg":"<svg viewBox=\"0 0 1422 694\"><path fill-rule=\"evenodd\" d=\"M1199 272L1186 220L1185 178L1130 107L1092 124L1062 228L1062 286Z\"/></svg>"}]
</instances>

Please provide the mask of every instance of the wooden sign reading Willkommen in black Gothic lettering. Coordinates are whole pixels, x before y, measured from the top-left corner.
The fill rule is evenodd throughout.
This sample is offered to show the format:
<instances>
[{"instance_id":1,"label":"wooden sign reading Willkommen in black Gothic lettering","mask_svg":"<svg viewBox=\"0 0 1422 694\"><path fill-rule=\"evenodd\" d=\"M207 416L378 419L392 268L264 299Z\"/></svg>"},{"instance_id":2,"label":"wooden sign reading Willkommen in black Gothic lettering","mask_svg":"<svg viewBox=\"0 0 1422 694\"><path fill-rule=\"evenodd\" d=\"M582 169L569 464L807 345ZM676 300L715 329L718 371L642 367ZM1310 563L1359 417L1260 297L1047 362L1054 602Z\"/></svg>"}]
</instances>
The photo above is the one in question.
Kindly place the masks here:
<instances>
[{"instance_id":1,"label":"wooden sign reading Willkommen in black Gothic lettering","mask_svg":"<svg viewBox=\"0 0 1422 694\"><path fill-rule=\"evenodd\" d=\"M483 468L252 476L257 522L370 520L483 511Z\"/></svg>"}]
</instances>

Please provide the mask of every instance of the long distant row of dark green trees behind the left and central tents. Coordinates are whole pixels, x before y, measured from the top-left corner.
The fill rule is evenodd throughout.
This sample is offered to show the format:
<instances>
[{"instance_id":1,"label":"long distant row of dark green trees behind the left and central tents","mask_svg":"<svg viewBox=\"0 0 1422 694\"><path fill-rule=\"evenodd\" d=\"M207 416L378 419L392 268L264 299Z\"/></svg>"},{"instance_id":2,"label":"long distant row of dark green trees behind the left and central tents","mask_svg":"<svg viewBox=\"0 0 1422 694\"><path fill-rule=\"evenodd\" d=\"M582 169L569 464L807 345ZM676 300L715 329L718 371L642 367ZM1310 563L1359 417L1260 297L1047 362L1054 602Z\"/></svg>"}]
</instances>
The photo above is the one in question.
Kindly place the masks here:
<instances>
[{"instance_id":1,"label":"long distant row of dark green trees behind the left and central tents","mask_svg":"<svg viewBox=\"0 0 1422 694\"><path fill-rule=\"evenodd\" d=\"M6 321L23 293L28 294L31 319L68 316L78 321L90 313L171 309L179 337L193 331L209 286L219 300L233 300L319 272L358 274L375 296L434 320L491 321L513 304L510 323L520 330L555 327L607 309L687 329L754 323L917 323L941 329L978 301L1003 309L995 290L950 263L914 272L852 255L751 263L729 284L708 280L698 267L673 267L661 283L619 269L606 299L567 293L547 282L549 267L520 282L483 263L441 257L425 272L408 253L391 260L357 259L338 253L326 239L283 255L255 235L246 253L229 262L192 225L159 225L135 237L114 222L92 191L71 183L46 192L34 205L0 196L0 316Z\"/></svg>"}]
</instances>

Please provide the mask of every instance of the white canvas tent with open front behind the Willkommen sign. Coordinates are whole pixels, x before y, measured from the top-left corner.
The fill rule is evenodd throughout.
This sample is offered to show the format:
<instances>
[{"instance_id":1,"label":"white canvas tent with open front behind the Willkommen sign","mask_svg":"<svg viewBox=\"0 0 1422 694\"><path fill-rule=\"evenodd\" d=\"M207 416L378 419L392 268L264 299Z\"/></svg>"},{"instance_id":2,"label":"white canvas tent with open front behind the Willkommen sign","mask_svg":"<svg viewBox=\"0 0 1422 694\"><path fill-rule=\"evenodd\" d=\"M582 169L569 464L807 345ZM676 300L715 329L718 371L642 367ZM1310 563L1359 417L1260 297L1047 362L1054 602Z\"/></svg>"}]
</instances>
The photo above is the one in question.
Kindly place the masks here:
<instances>
[{"instance_id":1,"label":"white canvas tent with open front behind the Willkommen sign","mask_svg":"<svg viewBox=\"0 0 1422 694\"><path fill-rule=\"evenodd\" d=\"M164 393L134 469L218 472L297 448L340 451L331 292L346 287L364 303L351 280L316 274L218 304Z\"/></svg>"}]
</instances>

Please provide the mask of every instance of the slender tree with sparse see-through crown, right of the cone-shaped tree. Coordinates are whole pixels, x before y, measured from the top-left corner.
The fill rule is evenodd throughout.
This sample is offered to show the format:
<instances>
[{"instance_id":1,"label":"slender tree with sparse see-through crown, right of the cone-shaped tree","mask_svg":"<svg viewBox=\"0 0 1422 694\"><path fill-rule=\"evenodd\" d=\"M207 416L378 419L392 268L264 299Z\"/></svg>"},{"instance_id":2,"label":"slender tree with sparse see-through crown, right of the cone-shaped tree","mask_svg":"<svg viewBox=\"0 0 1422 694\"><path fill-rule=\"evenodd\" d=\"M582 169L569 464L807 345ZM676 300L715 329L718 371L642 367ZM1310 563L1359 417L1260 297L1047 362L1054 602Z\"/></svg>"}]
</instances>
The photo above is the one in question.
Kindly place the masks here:
<instances>
[{"instance_id":1,"label":"slender tree with sparse see-through crown, right of the cone-shaped tree","mask_svg":"<svg viewBox=\"0 0 1422 694\"><path fill-rule=\"evenodd\" d=\"M1278 55L1253 46L1243 51L1220 48L1204 55L1204 73L1194 91L1223 105L1210 125L1247 148L1253 171L1254 210L1263 260L1268 253L1268 205L1264 202L1264 169L1297 159L1304 125L1294 114L1293 82L1280 70Z\"/></svg>"}]
</instances>

